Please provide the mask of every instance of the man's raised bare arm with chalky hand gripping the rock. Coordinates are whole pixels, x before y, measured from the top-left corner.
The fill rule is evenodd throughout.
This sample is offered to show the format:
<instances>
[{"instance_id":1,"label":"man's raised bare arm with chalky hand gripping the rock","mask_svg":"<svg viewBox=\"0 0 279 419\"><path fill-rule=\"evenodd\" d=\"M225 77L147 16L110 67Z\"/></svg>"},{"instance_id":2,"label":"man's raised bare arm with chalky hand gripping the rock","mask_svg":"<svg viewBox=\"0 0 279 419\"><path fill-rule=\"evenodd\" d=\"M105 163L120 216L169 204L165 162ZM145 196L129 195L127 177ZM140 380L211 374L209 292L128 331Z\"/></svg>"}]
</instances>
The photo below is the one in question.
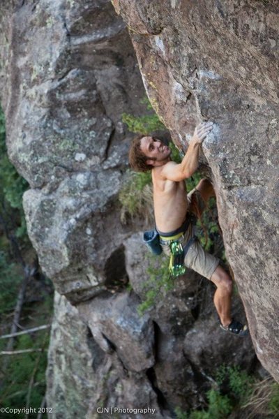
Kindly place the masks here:
<instances>
[{"instance_id":1,"label":"man's raised bare arm with chalky hand gripping the rock","mask_svg":"<svg viewBox=\"0 0 279 419\"><path fill-rule=\"evenodd\" d=\"M191 177L199 166L199 146L212 128L212 122L202 122L202 124L196 126L193 137L189 142L188 150L181 163L176 164L174 161L169 161L163 167L161 176L174 182L180 182Z\"/></svg>"}]
</instances>

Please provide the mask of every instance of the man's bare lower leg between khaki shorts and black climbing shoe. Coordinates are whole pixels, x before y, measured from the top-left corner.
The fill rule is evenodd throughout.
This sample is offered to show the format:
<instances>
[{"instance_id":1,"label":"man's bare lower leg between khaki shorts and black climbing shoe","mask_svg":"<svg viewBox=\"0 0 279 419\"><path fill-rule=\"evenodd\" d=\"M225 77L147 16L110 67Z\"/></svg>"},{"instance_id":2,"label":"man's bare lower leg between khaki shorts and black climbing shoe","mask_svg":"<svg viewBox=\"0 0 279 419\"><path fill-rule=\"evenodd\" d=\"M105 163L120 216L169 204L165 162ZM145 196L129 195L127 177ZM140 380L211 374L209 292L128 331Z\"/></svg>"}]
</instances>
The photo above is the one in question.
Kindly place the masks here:
<instances>
[{"instance_id":1,"label":"man's bare lower leg between khaki shorts and black climbing shoe","mask_svg":"<svg viewBox=\"0 0 279 419\"><path fill-rule=\"evenodd\" d=\"M218 265L211 276L211 281L217 286L214 294L214 304L223 326L227 327L232 323L231 306L232 306L232 279L223 267Z\"/></svg>"}]
</instances>

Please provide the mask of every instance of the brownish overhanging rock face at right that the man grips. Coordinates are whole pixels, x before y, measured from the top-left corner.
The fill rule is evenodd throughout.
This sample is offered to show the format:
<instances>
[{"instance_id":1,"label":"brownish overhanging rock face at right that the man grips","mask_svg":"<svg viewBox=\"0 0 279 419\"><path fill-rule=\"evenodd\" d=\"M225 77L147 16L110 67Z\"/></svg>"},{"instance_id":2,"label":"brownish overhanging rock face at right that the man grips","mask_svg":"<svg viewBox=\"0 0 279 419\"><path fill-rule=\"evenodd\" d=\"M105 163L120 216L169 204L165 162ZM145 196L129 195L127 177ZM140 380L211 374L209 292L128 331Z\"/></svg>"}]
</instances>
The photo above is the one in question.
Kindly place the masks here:
<instances>
[{"instance_id":1,"label":"brownish overhanging rock face at right that the man grips","mask_svg":"<svg viewBox=\"0 0 279 419\"><path fill-rule=\"evenodd\" d=\"M151 103L176 144L203 144L227 258L259 360L279 379L278 1L114 1Z\"/></svg>"}]
</instances>

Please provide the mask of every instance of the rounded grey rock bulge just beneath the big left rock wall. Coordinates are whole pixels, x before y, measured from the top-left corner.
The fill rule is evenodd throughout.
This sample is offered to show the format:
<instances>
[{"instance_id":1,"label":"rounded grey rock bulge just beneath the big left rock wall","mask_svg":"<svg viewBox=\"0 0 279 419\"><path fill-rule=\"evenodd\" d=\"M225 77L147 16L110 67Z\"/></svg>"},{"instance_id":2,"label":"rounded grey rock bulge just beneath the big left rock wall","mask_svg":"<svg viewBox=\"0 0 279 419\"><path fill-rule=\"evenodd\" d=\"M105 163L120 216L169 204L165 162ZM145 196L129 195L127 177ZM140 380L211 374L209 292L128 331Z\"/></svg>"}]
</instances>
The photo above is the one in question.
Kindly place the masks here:
<instances>
[{"instance_id":1,"label":"rounded grey rock bulge just beneath the big left rock wall","mask_svg":"<svg viewBox=\"0 0 279 419\"><path fill-rule=\"evenodd\" d=\"M116 351L130 371L151 368L154 358L153 323L137 313L139 300L133 293L107 293L79 304L79 311L103 351Z\"/></svg>"}]
</instances>

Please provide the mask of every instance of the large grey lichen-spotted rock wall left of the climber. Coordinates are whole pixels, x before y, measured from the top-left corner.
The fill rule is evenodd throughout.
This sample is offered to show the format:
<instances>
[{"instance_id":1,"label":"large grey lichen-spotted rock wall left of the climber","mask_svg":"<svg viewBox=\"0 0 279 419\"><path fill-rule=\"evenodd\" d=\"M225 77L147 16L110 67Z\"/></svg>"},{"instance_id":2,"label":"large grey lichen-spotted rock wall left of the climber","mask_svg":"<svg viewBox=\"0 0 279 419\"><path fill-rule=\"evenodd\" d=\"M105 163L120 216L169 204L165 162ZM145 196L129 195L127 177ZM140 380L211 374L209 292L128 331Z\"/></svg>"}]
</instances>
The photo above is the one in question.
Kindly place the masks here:
<instances>
[{"instance_id":1,"label":"large grey lichen-spotted rock wall left of the climber","mask_svg":"<svg viewBox=\"0 0 279 419\"><path fill-rule=\"evenodd\" d=\"M125 274L121 113L142 112L144 96L133 47L110 1L6 3L3 107L10 159L31 186L29 236L56 289L86 300L116 260Z\"/></svg>"}]
</instances>

